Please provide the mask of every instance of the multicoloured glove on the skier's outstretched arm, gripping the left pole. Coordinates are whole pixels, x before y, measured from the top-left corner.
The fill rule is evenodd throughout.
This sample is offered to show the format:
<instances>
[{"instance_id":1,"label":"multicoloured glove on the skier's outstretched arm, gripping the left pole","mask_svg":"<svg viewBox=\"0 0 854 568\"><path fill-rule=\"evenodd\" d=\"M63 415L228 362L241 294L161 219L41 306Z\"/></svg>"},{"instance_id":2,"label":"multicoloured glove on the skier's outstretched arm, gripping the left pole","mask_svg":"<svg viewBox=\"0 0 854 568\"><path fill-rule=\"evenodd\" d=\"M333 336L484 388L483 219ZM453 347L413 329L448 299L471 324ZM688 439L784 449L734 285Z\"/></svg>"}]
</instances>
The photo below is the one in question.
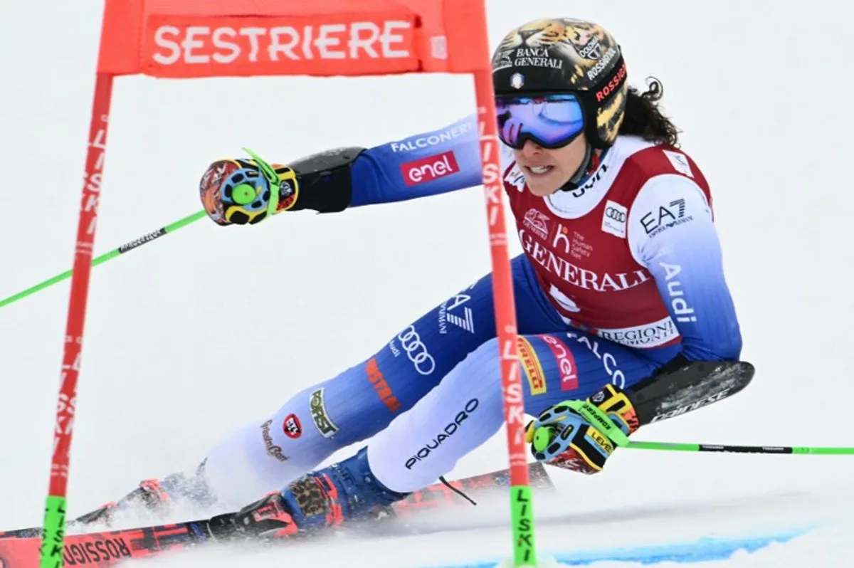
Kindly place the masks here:
<instances>
[{"instance_id":1,"label":"multicoloured glove on the skier's outstretched arm, gripping the left pole","mask_svg":"<svg viewBox=\"0 0 854 568\"><path fill-rule=\"evenodd\" d=\"M300 187L294 170L251 159L214 161L202 175L199 193L218 225L254 225L294 207Z\"/></svg>"}]
</instances>

